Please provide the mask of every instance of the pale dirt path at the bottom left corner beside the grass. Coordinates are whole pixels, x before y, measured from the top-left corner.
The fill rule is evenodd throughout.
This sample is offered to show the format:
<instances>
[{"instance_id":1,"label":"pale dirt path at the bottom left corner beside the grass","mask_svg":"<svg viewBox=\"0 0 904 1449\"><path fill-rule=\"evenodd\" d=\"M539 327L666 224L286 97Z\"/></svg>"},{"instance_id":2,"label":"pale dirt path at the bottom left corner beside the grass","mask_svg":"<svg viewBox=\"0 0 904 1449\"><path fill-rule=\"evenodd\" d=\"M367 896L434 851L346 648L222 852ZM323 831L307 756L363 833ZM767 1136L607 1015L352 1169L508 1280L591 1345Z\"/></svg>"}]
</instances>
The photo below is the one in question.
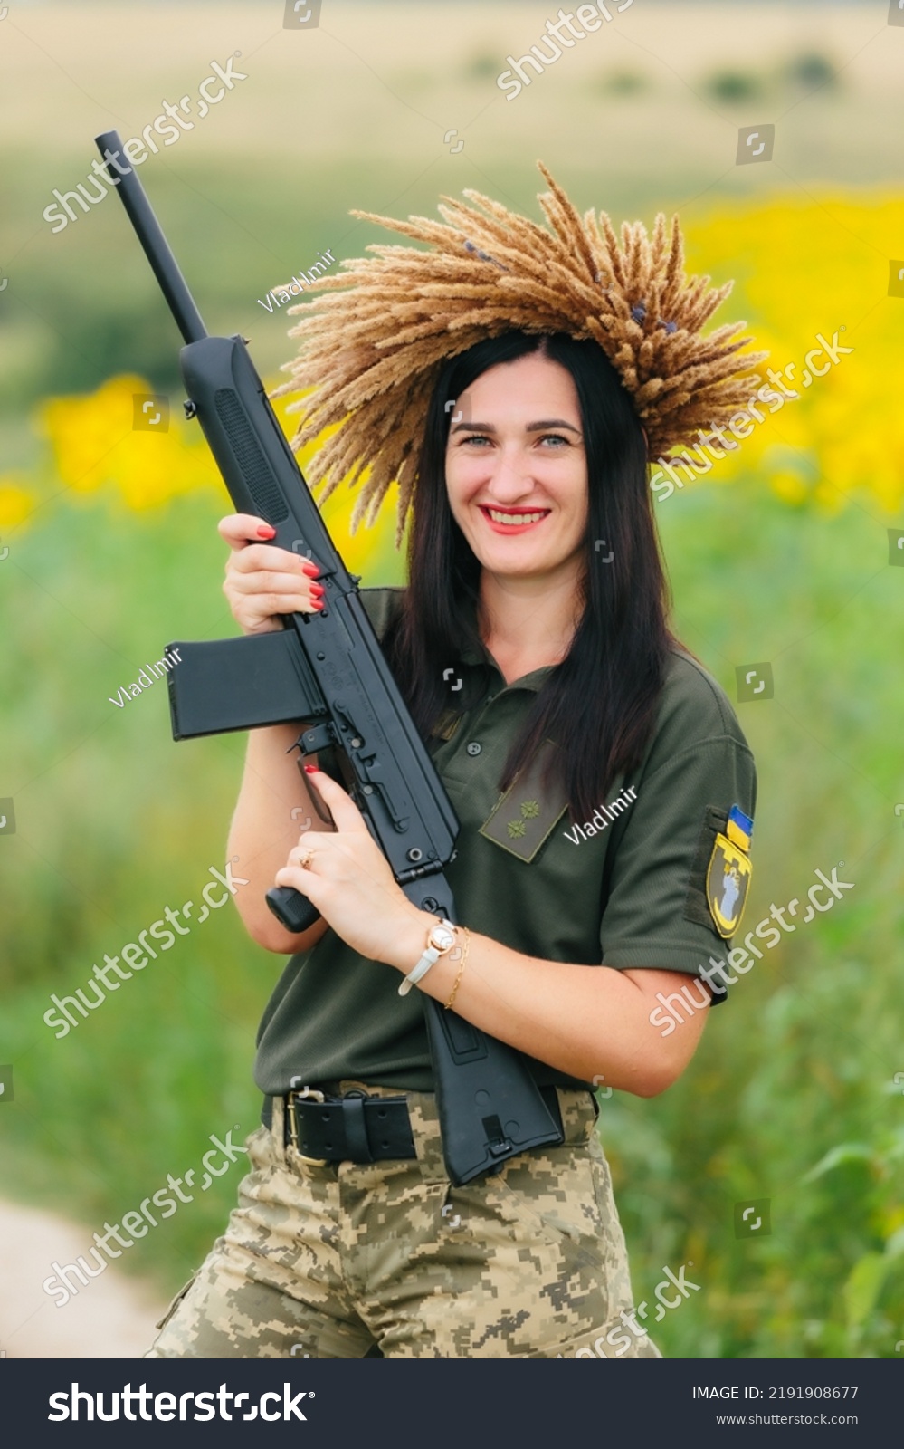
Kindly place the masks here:
<instances>
[{"instance_id":1,"label":"pale dirt path at the bottom left corner beside the grass","mask_svg":"<svg viewBox=\"0 0 904 1449\"><path fill-rule=\"evenodd\" d=\"M0 1355L6 1358L141 1358L165 1303L158 1290L110 1264L68 1303L41 1287L54 1262L87 1256L85 1230L54 1213L0 1203ZM88 1256L88 1264L94 1266Z\"/></svg>"}]
</instances>

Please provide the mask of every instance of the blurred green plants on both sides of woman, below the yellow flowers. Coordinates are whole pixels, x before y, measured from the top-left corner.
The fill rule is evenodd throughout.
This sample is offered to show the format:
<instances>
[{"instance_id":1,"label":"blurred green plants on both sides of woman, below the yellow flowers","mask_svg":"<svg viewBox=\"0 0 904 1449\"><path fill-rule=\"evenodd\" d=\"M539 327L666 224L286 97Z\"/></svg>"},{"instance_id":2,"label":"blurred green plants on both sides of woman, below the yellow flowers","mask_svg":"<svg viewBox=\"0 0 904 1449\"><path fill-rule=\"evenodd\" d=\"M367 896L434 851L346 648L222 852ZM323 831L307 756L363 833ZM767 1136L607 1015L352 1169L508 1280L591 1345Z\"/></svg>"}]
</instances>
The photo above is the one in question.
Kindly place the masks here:
<instances>
[{"instance_id":1,"label":"blurred green plants on both sides of woman, below the yellow flowers","mask_svg":"<svg viewBox=\"0 0 904 1449\"><path fill-rule=\"evenodd\" d=\"M164 906L197 898L223 865L243 738L172 745L162 685L122 711L107 698L164 642L233 632L220 511L210 490L143 514L112 496L64 501L0 572L20 620L6 640L3 726L20 781L17 833L0 840L0 1056L16 1072L0 1113L6 1190L83 1222L85 1245L167 1174L197 1169L212 1133L249 1132L258 1114L254 1030L282 958L251 943L232 907L68 1036L42 1022L51 991L84 985L94 961ZM659 522L688 646L730 697L750 651L774 664L775 698L739 706L759 767L748 929L771 901L803 895L817 867L843 859L856 888L756 962L669 1093L601 1103L635 1301L652 1301L665 1265L692 1262L701 1291L652 1324L666 1355L892 1356L904 1337L904 1095L890 1090L904 1071L890 1010L904 842L888 658L904 575L885 567L884 529L865 510L791 510L750 481L677 496ZM384 564L365 584L397 577ZM239 1171L122 1266L174 1291L225 1226ZM762 1197L771 1235L736 1239L734 1204Z\"/></svg>"}]
</instances>

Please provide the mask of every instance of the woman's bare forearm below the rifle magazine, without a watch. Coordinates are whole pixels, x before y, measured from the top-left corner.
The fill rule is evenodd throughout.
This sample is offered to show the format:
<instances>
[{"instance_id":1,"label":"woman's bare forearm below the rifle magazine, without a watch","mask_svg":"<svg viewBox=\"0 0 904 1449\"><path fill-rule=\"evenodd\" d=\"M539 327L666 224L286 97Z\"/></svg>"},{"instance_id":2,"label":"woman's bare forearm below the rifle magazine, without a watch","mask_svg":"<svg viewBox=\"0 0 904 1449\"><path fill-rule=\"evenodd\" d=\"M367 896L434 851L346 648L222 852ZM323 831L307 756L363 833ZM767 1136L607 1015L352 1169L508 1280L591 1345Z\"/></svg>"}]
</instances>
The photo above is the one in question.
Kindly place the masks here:
<instances>
[{"instance_id":1,"label":"woman's bare forearm below the rifle magazine, without a watch","mask_svg":"<svg viewBox=\"0 0 904 1449\"><path fill-rule=\"evenodd\" d=\"M326 923L320 920L294 936L280 924L264 900L301 830L330 829L311 804L307 784L296 765L297 751L287 753L300 730L300 724L274 724L249 732L245 772L226 848L229 858L239 858L236 874L248 878L248 885L235 897L245 929L258 945L284 955L306 951L326 930Z\"/></svg>"}]
</instances>

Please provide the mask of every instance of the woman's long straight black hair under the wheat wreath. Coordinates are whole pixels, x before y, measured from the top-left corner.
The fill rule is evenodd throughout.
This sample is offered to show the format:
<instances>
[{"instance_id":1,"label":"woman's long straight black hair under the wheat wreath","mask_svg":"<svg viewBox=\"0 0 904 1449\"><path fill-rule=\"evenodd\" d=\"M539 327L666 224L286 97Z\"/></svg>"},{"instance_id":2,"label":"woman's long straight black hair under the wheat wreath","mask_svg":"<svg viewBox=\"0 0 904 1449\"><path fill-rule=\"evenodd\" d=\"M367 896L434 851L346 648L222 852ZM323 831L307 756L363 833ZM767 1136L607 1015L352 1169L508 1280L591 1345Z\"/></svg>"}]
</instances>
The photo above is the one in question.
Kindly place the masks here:
<instances>
[{"instance_id":1,"label":"woman's long straight black hair under the wheat wreath","mask_svg":"<svg viewBox=\"0 0 904 1449\"><path fill-rule=\"evenodd\" d=\"M656 716L669 646L668 590L646 481L646 443L629 393L595 342L507 332L443 368L424 426L409 536L409 588L387 652L420 733L449 709L443 669L478 645L481 565L449 509L445 455L451 412L491 367L540 352L572 377L588 475L582 611L565 659L549 674L513 742L500 790L552 739L549 769L572 819L587 820L617 774L639 764ZM594 545L606 540L601 549ZM611 562L604 559L611 549ZM448 672L448 668L446 668Z\"/></svg>"}]
</instances>

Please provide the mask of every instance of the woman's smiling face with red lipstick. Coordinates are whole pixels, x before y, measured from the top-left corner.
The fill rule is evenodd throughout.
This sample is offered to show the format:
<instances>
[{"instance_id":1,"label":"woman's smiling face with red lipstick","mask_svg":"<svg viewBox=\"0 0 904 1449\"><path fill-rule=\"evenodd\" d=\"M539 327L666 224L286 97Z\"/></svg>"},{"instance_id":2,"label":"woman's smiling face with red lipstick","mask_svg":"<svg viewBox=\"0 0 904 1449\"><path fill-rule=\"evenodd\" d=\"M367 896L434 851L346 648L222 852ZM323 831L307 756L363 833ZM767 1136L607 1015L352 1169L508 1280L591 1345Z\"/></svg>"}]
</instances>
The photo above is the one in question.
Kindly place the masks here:
<instances>
[{"instance_id":1,"label":"woman's smiling face with red lipstick","mask_svg":"<svg viewBox=\"0 0 904 1449\"><path fill-rule=\"evenodd\" d=\"M571 374L539 352L482 372L455 400L446 490L455 522L491 574L577 578L587 455Z\"/></svg>"}]
</instances>

